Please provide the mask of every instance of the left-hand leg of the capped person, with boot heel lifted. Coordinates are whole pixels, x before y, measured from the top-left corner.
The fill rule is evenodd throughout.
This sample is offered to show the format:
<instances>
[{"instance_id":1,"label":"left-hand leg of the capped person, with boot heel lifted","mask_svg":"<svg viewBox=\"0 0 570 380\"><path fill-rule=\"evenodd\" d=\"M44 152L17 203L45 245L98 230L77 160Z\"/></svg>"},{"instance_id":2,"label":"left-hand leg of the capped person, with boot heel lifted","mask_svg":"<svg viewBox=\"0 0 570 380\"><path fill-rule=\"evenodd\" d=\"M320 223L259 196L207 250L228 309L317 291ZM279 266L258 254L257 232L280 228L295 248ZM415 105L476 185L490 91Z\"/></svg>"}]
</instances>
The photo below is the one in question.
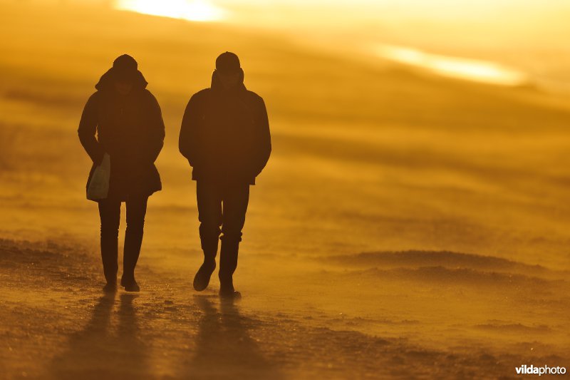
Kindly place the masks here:
<instances>
[{"instance_id":1,"label":"left-hand leg of the capped person, with boot heel lifted","mask_svg":"<svg viewBox=\"0 0 570 380\"><path fill-rule=\"evenodd\" d=\"M216 269L218 238L222 225L222 197L219 186L214 183L196 183L198 220L200 222L200 242L204 251L204 262L194 277L194 289L198 292L206 289L209 278Z\"/></svg>"}]
</instances>

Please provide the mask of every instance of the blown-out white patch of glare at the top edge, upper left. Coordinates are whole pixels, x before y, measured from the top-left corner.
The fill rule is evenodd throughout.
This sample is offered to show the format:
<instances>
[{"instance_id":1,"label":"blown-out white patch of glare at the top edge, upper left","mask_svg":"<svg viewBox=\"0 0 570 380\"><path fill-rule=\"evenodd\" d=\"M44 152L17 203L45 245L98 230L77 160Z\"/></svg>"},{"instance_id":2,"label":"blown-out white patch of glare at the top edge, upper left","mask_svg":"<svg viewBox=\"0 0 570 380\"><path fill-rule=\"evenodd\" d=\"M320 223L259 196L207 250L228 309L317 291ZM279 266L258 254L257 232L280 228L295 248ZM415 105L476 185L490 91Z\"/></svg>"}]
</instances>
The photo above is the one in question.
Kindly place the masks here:
<instances>
[{"instance_id":1,"label":"blown-out white patch of glare at the top edge, upper left","mask_svg":"<svg viewBox=\"0 0 570 380\"><path fill-rule=\"evenodd\" d=\"M116 0L115 9L188 21L217 21L224 18L222 9L200 0Z\"/></svg>"}]
</instances>

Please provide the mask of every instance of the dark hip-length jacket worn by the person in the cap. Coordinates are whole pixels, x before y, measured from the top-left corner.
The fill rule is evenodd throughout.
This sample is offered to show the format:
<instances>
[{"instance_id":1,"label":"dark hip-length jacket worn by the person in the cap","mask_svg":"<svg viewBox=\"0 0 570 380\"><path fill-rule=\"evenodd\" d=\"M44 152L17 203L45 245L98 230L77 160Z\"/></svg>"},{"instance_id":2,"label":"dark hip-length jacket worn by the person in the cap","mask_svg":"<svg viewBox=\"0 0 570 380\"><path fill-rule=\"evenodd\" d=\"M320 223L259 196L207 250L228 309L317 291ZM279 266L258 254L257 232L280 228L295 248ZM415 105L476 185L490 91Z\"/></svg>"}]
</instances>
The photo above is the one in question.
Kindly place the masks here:
<instances>
[{"instance_id":1,"label":"dark hip-length jacket worn by the person in the cap","mask_svg":"<svg viewBox=\"0 0 570 380\"><path fill-rule=\"evenodd\" d=\"M225 89L212 74L212 87L195 93L180 129L180 153L192 165L192 180L255 184L271 153L265 103L243 83Z\"/></svg>"}]
</instances>

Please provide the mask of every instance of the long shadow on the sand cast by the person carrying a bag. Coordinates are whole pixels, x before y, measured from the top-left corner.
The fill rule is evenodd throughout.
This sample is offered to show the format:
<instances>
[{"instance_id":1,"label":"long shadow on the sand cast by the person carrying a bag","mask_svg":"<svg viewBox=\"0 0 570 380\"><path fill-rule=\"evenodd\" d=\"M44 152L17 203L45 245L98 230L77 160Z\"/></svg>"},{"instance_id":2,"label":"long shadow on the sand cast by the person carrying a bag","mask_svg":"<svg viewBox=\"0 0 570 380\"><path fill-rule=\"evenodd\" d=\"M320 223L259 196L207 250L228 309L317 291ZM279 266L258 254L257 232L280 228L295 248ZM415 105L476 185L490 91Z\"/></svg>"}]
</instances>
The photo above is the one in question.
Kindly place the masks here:
<instances>
[{"instance_id":1,"label":"long shadow on the sand cast by the person carrying a bag","mask_svg":"<svg viewBox=\"0 0 570 380\"><path fill-rule=\"evenodd\" d=\"M115 294L100 297L86 327L71 335L68 349L48 369L53 379L126 379L147 373L147 353L133 307L137 294L120 294L113 331Z\"/></svg>"}]
</instances>

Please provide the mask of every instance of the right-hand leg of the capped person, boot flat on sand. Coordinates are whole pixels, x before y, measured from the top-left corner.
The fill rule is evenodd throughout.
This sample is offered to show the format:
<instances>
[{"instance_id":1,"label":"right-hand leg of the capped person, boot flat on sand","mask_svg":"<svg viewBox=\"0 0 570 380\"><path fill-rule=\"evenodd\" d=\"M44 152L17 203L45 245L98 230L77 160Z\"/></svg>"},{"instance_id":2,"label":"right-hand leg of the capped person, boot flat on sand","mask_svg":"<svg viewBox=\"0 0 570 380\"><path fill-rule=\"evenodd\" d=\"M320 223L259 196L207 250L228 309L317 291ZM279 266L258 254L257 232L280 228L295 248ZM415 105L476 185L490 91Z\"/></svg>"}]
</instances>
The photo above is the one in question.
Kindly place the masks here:
<instances>
[{"instance_id":1,"label":"right-hand leg of the capped person, boot flat on sand","mask_svg":"<svg viewBox=\"0 0 570 380\"><path fill-rule=\"evenodd\" d=\"M239 242L249 203L249 184L231 185L224 188L224 211L222 222L222 250L219 254L220 294L234 295L233 274L237 268Z\"/></svg>"}]
</instances>

